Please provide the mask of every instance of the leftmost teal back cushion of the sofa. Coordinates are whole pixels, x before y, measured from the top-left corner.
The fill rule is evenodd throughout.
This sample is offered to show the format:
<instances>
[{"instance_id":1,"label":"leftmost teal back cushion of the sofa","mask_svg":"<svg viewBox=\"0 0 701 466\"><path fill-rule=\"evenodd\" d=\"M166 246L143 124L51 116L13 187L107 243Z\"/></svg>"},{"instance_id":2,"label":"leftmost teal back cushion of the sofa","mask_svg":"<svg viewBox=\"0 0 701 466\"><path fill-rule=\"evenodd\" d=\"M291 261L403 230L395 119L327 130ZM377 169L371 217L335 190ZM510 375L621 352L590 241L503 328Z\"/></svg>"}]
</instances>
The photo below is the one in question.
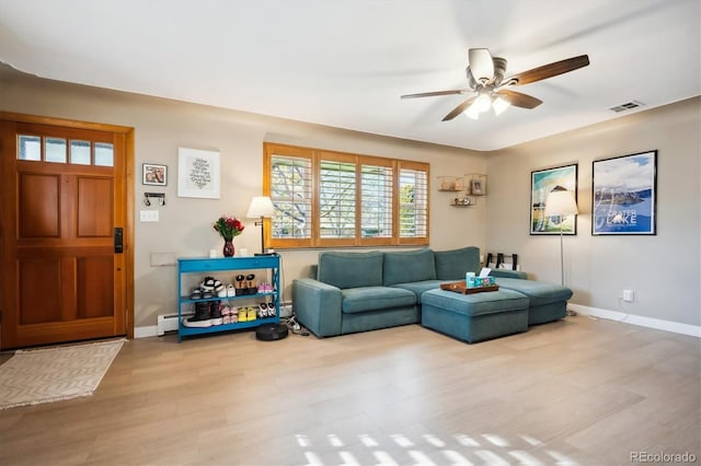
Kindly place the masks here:
<instances>
[{"instance_id":1,"label":"leftmost teal back cushion of the sofa","mask_svg":"<svg viewBox=\"0 0 701 466\"><path fill-rule=\"evenodd\" d=\"M382 258L378 251L368 253L319 254L319 281L336 288L380 287L382 284Z\"/></svg>"}]
</instances>

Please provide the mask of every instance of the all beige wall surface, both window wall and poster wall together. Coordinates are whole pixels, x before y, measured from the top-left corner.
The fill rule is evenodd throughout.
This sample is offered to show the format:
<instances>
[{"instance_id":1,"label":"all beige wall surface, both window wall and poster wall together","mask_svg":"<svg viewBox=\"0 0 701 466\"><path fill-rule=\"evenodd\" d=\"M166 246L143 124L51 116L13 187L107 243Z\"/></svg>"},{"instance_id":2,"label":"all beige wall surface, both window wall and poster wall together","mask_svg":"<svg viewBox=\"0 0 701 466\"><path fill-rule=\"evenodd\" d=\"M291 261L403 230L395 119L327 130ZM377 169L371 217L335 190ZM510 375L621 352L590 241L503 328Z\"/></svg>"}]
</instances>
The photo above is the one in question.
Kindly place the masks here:
<instances>
[{"instance_id":1,"label":"all beige wall surface, both window wall and poster wall together","mask_svg":"<svg viewBox=\"0 0 701 466\"><path fill-rule=\"evenodd\" d=\"M264 141L378 156L427 161L432 170L430 246L476 245L518 253L531 278L560 281L559 237L529 235L530 172L579 165L578 233L565 237L565 280L574 303L699 326L701 311L701 202L699 163L701 100L668 105L493 153L480 153L308 125L241 112L99 90L26 77L0 66L0 109L135 128L135 171L141 163L169 166L165 188L134 186L136 222L136 326L156 325L176 311L175 268L152 267L152 253L204 256L221 241L211 222L221 213L244 215L262 189ZM221 153L221 199L177 198L177 148ZM591 161L657 149L657 235L590 234ZM489 196L474 208L453 208L436 178L489 172ZM138 176L137 176L138 178ZM140 178L138 178L140 179ZM164 191L159 223L139 223L145 191ZM243 219L238 248L260 248L260 230ZM283 252L285 300L294 278L307 275L318 251ZM623 289L636 293L621 303Z\"/></svg>"}]
</instances>

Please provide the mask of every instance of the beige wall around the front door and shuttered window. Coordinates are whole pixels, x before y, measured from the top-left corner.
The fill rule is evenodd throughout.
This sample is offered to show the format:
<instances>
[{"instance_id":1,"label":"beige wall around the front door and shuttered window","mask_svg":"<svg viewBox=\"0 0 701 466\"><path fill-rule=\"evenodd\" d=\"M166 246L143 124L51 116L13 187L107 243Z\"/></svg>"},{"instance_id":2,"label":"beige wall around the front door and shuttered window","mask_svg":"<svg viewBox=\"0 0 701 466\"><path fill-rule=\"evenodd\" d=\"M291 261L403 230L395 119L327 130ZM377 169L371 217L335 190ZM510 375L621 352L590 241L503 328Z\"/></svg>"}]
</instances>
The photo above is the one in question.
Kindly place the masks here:
<instances>
[{"instance_id":1,"label":"beige wall around the front door and shuttered window","mask_svg":"<svg viewBox=\"0 0 701 466\"><path fill-rule=\"evenodd\" d=\"M157 315L176 312L176 272L172 266L152 267L152 253L206 256L222 242L211 223L222 213L245 215L253 196L262 193L263 142L280 142L387 158L427 161L432 171L430 246L436 249L484 245L485 202L453 208L449 193L436 193L436 177L484 173L478 152L411 142L271 118L215 107L113 92L26 77L0 66L0 109L41 116L123 125L135 128L134 186L136 212L135 321L137 327L156 325ZM177 197L177 148L217 150L221 156L221 198ZM140 183L141 164L166 164L165 188ZM145 191L164 191L159 223L138 222ZM260 229L243 219L246 230L238 248L260 249ZM291 300L295 277L307 275L318 251L281 252L285 300Z\"/></svg>"}]
</instances>

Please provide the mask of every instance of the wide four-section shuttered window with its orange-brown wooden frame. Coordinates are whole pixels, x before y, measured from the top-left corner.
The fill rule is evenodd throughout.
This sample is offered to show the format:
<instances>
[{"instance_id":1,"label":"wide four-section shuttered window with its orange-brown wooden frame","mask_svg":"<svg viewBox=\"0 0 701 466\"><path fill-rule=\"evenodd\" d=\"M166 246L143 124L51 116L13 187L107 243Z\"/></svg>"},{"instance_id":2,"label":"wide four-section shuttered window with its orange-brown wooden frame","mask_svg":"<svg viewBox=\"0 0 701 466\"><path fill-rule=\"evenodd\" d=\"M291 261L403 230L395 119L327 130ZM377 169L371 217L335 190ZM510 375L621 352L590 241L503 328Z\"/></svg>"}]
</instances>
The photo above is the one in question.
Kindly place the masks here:
<instances>
[{"instance_id":1,"label":"wide four-section shuttered window with its orange-brown wooden frame","mask_svg":"<svg viewBox=\"0 0 701 466\"><path fill-rule=\"evenodd\" d=\"M276 248L428 244L427 163L264 144Z\"/></svg>"}]
</instances>

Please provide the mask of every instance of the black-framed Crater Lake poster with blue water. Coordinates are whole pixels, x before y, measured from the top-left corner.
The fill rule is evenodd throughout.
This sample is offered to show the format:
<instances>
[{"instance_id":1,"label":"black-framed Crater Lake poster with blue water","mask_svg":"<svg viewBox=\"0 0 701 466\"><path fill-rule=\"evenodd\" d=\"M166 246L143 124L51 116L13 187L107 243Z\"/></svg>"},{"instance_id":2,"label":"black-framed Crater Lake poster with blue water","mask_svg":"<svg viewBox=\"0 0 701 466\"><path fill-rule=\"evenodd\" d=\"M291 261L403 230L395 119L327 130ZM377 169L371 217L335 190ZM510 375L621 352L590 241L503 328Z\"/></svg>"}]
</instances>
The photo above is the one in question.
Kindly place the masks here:
<instances>
[{"instance_id":1,"label":"black-framed Crater Lake poster with blue water","mask_svg":"<svg viewBox=\"0 0 701 466\"><path fill-rule=\"evenodd\" d=\"M657 151L591 162L591 234L656 234Z\"/></svg>"}]
</instances>

